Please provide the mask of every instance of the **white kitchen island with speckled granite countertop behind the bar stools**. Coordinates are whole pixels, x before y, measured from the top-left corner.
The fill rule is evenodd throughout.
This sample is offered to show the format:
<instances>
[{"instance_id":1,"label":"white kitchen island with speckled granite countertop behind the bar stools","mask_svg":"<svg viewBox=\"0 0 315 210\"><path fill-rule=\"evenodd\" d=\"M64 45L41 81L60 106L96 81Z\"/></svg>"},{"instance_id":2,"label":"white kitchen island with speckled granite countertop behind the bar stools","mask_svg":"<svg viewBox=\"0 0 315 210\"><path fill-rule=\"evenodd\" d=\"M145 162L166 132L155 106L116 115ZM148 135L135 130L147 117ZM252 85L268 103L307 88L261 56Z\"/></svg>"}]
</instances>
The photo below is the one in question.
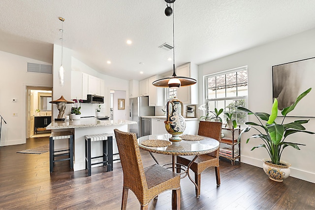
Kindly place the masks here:
<instances>
[{"instance_id":1,"label":"white kitchen island with speckled granite countertop behind the bar stools","mask_svg":"<svg viewBox=\"0 0 315 210\"><path fill-rule=\"evenodd\" d=\"M81 118L80 120L65 120L53 121L46 129L56 131L71 130L74 134L73 142L73 171L85 170L85 136L93 134L113 134L113 153L118 153L114 129L119 129L128 132L128 125L136 124L129 120L98 120L96 118ZM55 142L57 149L67 148L67 141L60 140ZM101 141L93 142L92 156L102 155ZM113 158L119 159L119 155ZM93 162L99 162L99 159L94 159ZM93 163L92 162L92 163ZM117 161L116 161L117 162ZM95 165L99 166L99 165ZM94 167L95 167L94 166Z\"/></svg>"}]
</instances>

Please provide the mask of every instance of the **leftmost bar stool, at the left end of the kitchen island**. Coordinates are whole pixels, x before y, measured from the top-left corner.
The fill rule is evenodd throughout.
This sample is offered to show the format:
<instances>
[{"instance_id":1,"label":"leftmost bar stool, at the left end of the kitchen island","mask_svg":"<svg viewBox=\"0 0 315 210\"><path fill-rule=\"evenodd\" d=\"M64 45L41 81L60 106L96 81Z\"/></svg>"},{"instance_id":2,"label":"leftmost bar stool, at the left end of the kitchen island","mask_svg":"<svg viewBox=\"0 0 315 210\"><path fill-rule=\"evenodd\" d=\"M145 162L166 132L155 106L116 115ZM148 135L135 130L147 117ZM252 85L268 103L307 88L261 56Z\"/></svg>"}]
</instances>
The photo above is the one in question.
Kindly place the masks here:
<instances>
[{"instance_id":1,"label":"leftmost bar stool, at the left end of the kitchen island","mask_svg":"<svg viewBox=\"0 0 315 210\"><path fill-rule=\"evenodd\" d=\"M68 139L68 149L55 151L55 140ZM63 153L60 153L63 152ZM55 154L58 153L58 154ZM55 160L55 157L65 156L67 158ZM73 134L71 131L52 132L49 137L49 166L50 173L54 171L54 163L70 160L70 169L73 169Z\"/></svg>"}]
</instances>

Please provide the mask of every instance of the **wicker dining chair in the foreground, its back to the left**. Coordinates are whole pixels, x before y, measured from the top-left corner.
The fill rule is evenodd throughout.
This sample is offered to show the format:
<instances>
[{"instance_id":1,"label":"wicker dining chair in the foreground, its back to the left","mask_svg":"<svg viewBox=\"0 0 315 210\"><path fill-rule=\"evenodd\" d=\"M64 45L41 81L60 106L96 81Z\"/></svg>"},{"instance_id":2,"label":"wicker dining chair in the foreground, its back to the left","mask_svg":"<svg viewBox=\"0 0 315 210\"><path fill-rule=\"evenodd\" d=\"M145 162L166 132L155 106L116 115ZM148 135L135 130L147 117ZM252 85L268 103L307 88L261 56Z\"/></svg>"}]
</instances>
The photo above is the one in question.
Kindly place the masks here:
<instances>
[{"instance_id":1,"label":"wicker dining chair in the foreground, its back to the left","mask_svg":"<svg viewBox=\"0 0 315 210\"><path fill-rule=\"evenodd\" d=\"M124 173L122 210L126 209L130 189L140 202L141 210L158 194L172 190L172 209L180 209L180 175L158 164L143 167L137 137L134 133L114 130Z\"/></svg>"}]
</instances>

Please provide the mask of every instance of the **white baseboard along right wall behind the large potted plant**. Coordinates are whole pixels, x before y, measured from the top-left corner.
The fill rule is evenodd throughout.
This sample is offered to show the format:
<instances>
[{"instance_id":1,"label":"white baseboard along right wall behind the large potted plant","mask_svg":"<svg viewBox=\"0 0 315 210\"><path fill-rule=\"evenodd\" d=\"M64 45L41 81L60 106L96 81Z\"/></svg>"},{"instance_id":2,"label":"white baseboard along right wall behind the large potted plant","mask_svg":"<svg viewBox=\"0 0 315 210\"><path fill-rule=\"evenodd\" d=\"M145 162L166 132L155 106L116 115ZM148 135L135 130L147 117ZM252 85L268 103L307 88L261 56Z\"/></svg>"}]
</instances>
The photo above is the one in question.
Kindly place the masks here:
<instances>
[{"instance_id":1,"label":"white baseboard along right wall behind the large potted plant","mask_svg":"<svg viewBox=\"0 0 315 210\"><path fill-rule=\"evenodd\" d=\"M263 161L260 159L255 159L252 157L242 155L241 160L242 163L262 168ZM290 170L291 170L290 176L315 183L315 174L307 171L302 171L294 167L290 167Z\"/></svg>"}]
</instances>

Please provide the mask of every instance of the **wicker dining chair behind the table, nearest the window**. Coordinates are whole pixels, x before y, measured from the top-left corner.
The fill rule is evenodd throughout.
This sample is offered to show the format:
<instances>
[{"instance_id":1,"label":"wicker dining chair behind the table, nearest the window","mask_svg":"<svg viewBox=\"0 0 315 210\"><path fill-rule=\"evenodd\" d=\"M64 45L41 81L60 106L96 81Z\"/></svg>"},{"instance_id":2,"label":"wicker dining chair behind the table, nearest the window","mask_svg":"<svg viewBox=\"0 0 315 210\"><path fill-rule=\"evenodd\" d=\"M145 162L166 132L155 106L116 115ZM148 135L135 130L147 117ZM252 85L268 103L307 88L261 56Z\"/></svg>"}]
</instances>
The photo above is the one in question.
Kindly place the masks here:
<instances>
[{"instance_id":1,"label":"wicker dining chair behind the table, nearest the window","mask_svg":"<svg viewBox=\"0 0 315 210\"><path fill-rule=\"evenodd\" d=\"M221 142L221 129L222 123L221 122L209 122L209 121L200 121L199 122L199 129L198 135L204 137L210 137L213 139L218 140ZM220 168L219 168L219 151L220 148L214 152L199 155L197 159L192 163L190 169L195 174L195 182L198 187L196 187L196 197L199 198L200 196L200 181L201 181L201 173L211 167L215 167L216 171L216 179L217 185L221 184L220 180ZM177 163L183 164L188 166L190 161L194 158L194 156L177 156Z\"/></svg>"}]
</instances>

